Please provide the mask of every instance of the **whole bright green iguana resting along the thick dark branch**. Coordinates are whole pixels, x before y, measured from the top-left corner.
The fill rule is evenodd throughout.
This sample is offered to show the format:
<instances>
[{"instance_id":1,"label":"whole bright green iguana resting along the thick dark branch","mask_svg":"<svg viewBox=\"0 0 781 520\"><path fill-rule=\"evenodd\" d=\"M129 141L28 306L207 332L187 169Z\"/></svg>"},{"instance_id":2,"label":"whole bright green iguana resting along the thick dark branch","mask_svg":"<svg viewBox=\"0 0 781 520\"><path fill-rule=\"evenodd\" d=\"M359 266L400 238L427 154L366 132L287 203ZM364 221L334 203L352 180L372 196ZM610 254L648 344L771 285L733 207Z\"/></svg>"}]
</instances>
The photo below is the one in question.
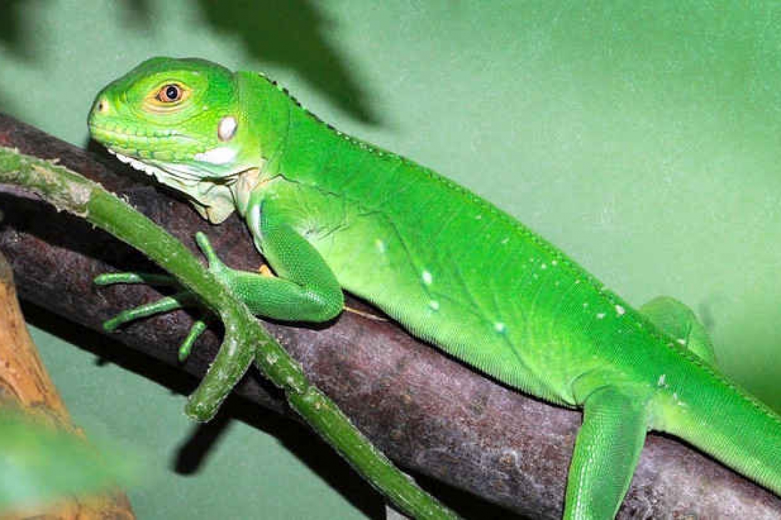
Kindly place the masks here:
<instances>
[{"instance_id":1,"label":"whole bright green iguana resting along the thick dark branch","mask_svg":"<svg viewBox=\"0 0 781 520\"><path fill-rule=\"evenodd\" d=\"M186 95L161 101L170 85ZM633 310L508 214L264 76L153 58L98 94L89 125L210 221L246 219L276 277L209 260L254 313L329 320L344 288L505 384L583 408L565 518L615 516L648 430L781 494L781 418L719 373L683 304Z\"/></svg>"}]
</instances>

